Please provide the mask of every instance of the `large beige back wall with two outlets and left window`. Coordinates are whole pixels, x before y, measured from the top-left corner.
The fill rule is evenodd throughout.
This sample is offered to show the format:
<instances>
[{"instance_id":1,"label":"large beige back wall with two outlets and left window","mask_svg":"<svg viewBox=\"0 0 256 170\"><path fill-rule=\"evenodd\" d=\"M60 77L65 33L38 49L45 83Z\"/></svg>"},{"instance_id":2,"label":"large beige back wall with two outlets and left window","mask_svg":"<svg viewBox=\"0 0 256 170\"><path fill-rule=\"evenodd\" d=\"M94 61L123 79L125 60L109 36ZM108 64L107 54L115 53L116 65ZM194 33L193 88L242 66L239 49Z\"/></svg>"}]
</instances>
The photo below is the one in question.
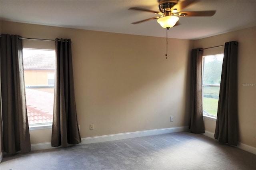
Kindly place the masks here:
<instances>
[{"instance_id":1,"label":"large beige back wall with two outlets and left window","mask_svg":"<svg viewBox=\"0 0 256 170\"><path fill-rule=\"evenodd\" d=\"M189 125L191 40L170 39L166 59L165 38L3 21L1 33L71 38L82 138ZM54 42L24 40L23 46L54 49ZM51 130L33 130L30 136L32 144L50 142Z\"/></svg>"}]
</instances>

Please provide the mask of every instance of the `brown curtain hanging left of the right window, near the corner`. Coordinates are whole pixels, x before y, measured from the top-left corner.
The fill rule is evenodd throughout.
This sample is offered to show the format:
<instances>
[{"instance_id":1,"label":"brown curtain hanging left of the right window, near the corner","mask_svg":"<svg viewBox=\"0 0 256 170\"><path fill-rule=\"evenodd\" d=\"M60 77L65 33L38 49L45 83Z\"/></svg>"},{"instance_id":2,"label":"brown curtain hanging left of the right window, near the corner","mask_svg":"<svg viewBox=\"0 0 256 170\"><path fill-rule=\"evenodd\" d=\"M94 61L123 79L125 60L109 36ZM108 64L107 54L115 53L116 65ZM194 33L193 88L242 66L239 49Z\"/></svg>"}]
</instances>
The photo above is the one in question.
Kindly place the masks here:
<instances>
[{"instance_id":1,"label":"brown curtain hanging left of the right window, near the corner","mask_svg":"<svg viewBox=\"0 0 256 170\"><path fill-rule=\"evenodd\" d=\"M204 133L202 107L202 49L192 49L191 56L190 132Z\"/></svg>"}]
</instances>

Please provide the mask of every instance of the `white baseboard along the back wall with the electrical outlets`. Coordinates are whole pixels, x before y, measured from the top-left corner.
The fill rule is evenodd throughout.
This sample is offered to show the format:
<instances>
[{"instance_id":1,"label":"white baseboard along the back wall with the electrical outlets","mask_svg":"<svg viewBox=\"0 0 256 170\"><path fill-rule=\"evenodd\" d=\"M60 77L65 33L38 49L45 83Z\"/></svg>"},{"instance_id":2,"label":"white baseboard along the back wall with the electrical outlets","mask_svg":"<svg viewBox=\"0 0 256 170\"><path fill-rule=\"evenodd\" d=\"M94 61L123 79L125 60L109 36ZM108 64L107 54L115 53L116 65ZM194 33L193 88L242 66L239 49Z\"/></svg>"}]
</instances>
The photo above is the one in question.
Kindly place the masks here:
<instances>
[{"instance_id":1,"label":"white baseboard along the back wall with the electrical outlets","mask_svg":"<svg viewBox=\"0 0 256 170\"><path fill-rule=\"evenodd\" d=\"M127 132L127 133L118 133L118 134L108 134L103 136L94 136L88 138L82 138L82 142L80 144L89 144L89 143L97 143L97 142L106 142L111 140L120 140L127 138L136 138L142 136L151 136L157 134L166 134L173 132L183 132L187 131L188 127L174 127L174 128L161 128L161 129L153 129L153 130L143 130L137 132ZM50 149L55 148L52 147L51 142L32 144L31 150L42 150L42 149Z\"/></svg>"}]
</instances>

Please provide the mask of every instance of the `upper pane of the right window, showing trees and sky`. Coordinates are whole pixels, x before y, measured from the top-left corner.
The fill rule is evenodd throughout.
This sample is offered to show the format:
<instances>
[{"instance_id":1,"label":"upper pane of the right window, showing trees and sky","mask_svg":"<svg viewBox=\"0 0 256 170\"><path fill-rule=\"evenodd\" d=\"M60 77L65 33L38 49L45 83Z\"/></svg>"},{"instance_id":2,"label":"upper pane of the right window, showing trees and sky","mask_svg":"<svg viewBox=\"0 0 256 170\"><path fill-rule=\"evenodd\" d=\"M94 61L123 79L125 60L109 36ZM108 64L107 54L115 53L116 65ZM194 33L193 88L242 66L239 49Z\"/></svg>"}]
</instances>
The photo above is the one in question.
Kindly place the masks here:
<instances>
[{"instance_id":1,"label":"upper pane of the right window, showing trees and sky","mask_svg":"<svg viewBox=\"0 0 256 170\"><path fill-rule=\"evenodd\" d=\"M203 84L220 85L223 54L204 57Z\"/></svg>"}]
</instances>

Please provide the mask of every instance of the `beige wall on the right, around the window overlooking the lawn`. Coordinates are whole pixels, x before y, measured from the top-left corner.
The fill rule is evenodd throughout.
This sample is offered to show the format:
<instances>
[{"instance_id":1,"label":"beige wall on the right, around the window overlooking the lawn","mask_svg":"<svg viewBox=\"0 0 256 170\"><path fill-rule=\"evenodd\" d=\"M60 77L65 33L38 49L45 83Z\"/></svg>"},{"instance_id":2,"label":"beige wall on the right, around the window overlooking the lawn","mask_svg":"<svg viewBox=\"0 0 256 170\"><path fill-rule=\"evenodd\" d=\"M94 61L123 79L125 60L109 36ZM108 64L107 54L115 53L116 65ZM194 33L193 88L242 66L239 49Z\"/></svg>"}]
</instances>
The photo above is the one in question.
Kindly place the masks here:
<instances>
[{"instance_id":1,"label":"beige wall on the right, around the window overlooking the lawn","mask_svg":"<svg viewBox=\"0 0 256 170\"><path fill-rule=\"evenodd\" d=\"M238 41L238 128L239 141L256 147L256 27L196 40L195 48L223 45ZM204 50L204 55L223 53L224 47ZM205 119L205 128L215 130L215 121Z\"/></svg>"}]
</instances>

